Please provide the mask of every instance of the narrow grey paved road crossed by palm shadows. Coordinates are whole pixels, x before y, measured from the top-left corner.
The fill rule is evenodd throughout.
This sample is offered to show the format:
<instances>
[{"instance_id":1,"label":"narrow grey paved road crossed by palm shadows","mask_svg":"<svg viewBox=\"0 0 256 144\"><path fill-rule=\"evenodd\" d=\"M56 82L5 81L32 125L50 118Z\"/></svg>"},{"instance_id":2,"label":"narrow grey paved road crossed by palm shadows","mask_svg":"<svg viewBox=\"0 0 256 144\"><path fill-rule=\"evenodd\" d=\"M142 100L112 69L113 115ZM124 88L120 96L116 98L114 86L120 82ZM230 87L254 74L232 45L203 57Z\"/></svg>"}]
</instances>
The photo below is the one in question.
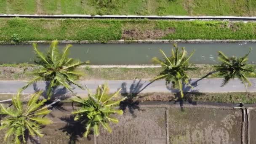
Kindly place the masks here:
<instances>
[{"instance_id":1,"label":"narrow grey paved road crossed by palm shadows","mask_svg":"<svg viewBox=\"0 0 256 144\"><path fill-rule=\"evenodd\" d=\"M194 83L197 79L192 79L190 83ZM250 79L252 86L248 88L248 92L256 92L256 78ZM25 85L25 81L0 81L0 93L16 93L22 86ZM79 81L82 85L86 84L89 89L94 91L99 84L108 83L110 87L110 92L117 91L118 88L123 88L123 93L125 90L127 92L138 92L144 86L146 86L148 80L85 80ZM197 85L194 85L194 88L184 87L184 91L196 91L196 92L244 92L246 91L244 85L240 83L240 80L235 79L231 80L224 87L220 87L222 79L203 79L197 82ZM36 85L31 85L27 88L24 93L33 93L38 90L45 90L45 83L40 82ZM79 95L86 94L87 91L81 90L80 88L74 88L75 93ZM142 93L149 92L175 92L165 85L164 80L155 81L145 88ZM56 93L64 93L64 89L57 89Z\"/></svg>"}]
</instances>

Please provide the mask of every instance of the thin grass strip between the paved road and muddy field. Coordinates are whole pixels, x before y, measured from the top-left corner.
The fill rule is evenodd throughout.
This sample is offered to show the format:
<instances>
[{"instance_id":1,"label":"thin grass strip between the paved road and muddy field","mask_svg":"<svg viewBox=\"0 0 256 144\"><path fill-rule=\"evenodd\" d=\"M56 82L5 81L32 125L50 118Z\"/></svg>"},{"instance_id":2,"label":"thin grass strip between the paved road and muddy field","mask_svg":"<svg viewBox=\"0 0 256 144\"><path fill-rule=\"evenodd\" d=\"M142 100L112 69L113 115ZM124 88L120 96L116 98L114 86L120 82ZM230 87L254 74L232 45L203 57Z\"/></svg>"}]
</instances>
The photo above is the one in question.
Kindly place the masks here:
<instances>
[{"instance_id":1,"label":"thin grass strip between the paved road and muddy field","mask_svg":"<svg viewBox=\"0 0 256 144\"><path fill-rule=\"evenodd\" d=\"M123 96L128 96L124 94ZM14 94L0 94L0 100L11 99ZM86 96L86 95L84 95ZM134 95L133 95L134 96ZM26 101L29 99L28 95L22 95L21 98ZM139 93L134 96L134 101L176 101L175 93ZM218 102L218 103L232 103L238 104L240 102L246 104L256 103L256 93L248 92L231 92L231 93L185 93L184 101L191 104L200 102ZM70 99L65 99L61 102L72 102Z\"/></svg>"}]
</instances>

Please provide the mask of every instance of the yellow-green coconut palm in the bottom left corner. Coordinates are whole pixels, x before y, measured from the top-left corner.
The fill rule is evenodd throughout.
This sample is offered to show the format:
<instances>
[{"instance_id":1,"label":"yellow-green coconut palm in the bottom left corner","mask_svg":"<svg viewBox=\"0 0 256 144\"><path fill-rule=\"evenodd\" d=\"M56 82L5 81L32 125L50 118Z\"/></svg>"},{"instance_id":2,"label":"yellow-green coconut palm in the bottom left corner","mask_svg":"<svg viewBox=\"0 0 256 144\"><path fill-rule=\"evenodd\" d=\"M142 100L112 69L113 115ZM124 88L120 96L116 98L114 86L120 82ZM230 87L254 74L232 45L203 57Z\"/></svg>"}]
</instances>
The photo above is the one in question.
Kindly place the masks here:
<instances>
[{"instance_id":1,"label":"yellow-green coconut palm in the bottom left corner","mask_svg":"<svg viewBox=\"0 0 256 144\"><path fill-rule=\"evenodd\" d=\"M43 137L41 125L51 124L52 121L44 115L51 111L47 107L41 107L46 99L38 100L42 92L30 96L27 106L22 105L20 92L12 98L12 107L5 107L0 104L0 114L6 115L1 120L0 130L5 131L5 141L11 144L26 143L28 136Z\"/></svg>"}]
</instances>

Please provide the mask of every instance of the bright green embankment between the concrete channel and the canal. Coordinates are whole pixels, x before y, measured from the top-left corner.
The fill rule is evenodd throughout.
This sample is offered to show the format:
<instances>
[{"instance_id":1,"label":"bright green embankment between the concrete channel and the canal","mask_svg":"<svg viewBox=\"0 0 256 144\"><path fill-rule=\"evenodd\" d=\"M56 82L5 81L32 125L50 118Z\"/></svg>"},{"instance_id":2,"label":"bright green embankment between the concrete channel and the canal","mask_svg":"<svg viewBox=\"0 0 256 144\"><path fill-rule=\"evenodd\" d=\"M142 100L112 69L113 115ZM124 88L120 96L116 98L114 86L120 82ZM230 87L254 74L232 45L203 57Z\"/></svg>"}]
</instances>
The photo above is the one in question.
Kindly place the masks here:
<instances>
[{"instance_id":1,"label":"bright green embankment between the concrete channel and the canal","mask_svg":"<svg viewBox=\"0 0 256 144\"><path fill-rule=\"evenodd\" d=\"M11 42L13 34L28 40L253 40L255 22L87 20L87 19L0 19L0 41Z\"/></svg>"}]
</instances>

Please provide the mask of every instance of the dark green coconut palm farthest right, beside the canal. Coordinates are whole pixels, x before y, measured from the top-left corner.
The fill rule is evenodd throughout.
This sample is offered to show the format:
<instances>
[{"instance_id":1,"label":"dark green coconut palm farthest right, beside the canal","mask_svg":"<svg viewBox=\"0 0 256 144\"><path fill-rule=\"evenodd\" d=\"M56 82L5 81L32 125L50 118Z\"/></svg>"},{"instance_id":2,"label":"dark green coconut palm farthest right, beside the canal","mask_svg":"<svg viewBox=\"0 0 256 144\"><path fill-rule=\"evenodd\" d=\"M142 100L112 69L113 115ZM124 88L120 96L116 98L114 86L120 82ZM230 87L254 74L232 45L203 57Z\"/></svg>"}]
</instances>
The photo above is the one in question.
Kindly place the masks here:
<instances>
[{"instance_id":1,"label":"dark green coconut palm farthest right, beside the canal","mask_svg":"<svg viewBox=\"0 0 256 144\"><path fill-rule=\"evenodd\" d=\"M218 59L221 64L215 67L218 75L224 77L221 87L226 85L230 79L234 79L235 77L238 77L242 81L245 88L247 88L247 85L251 86L251 82L246 77L246 75L255 75L253 67L247 64L248 55L250 52L251 48L250 51L245 54L245 56L237 58L235 56L227 57L224 53L218 51Z\"/></svg>"}]
</instances>

